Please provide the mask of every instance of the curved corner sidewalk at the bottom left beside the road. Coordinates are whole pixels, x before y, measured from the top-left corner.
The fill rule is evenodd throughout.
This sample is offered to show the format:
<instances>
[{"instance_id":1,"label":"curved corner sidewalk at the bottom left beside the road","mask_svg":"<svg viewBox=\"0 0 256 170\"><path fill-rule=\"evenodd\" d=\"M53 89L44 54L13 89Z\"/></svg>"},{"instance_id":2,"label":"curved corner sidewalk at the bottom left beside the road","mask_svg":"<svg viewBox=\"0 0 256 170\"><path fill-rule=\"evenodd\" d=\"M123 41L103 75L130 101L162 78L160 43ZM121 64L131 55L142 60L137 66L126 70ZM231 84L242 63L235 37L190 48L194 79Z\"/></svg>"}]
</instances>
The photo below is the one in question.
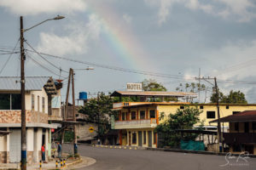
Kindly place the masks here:
<instances>
[{"instance_id":1,"label":"curved corner sidewalk at the bottom left beside the road","mask_svg":"<svg viewBox=\"0 0 256 170\"><path fill-rule=\"evenodd\" d=\"M90 158L90 157L85 157L81 156L80 158L77 159L67 159L66 161L66 166L61 168L61 162L58 162L58 167L56 168L56 160L59 161L59 159L53 159L52 161L49 161L48 163L42 163L42 170L46 169L70 169L71 167L87 167L90 166L91 164L95 163L96 160ZM16 170L20 169L20 163L3 163L0 164L0 170ZM39 169L39 163L33 163L31 165L27 165L26 167L27 170L36 170Z\"/></svg>"}]
</instances>

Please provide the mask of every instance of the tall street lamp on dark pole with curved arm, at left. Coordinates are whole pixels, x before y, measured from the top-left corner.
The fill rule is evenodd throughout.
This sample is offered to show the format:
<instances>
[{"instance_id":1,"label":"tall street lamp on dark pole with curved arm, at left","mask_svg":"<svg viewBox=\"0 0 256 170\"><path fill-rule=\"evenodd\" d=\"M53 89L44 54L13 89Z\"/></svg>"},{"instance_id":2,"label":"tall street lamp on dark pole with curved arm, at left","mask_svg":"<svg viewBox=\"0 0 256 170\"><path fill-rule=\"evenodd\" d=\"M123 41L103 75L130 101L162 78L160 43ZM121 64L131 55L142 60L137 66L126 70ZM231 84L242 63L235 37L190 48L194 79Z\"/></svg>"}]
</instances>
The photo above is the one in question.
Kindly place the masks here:
<instances>
[{"instance_id":1,"label":"tall street lamp on dark pole with curved arm, at left","mask_svg":"<svg viewBox=\"0 0 256 170\"><path fill-rule=\"evenodd\" d=\"M63 16L56 16L53 19L48 20L61 20ZM21 165L20 168L22 170L26 170L26 108L25 108L25 71L24 71L24 62L25 62L25 54L24 54L24 38L23 33L25 31L29 31L32 28L43 24L48 21L44 20L43 22L38 23L35 26L32 26L27 29L23 29L23 17L20 16L20 95L21 95Z\"/></svg>"}]
</instances>

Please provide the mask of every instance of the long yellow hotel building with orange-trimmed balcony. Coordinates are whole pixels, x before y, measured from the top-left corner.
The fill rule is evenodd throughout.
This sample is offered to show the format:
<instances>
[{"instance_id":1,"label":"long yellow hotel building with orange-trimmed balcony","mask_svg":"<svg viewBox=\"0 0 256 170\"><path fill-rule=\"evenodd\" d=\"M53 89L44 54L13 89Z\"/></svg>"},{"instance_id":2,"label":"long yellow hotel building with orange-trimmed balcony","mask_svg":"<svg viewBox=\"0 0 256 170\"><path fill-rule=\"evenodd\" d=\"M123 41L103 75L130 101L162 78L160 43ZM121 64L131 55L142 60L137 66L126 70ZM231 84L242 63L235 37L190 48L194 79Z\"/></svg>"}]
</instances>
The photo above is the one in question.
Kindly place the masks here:
<instances>
[{"instance_id":1,"label":"long yellow hotel building with orange-trimmed balcony","mask_svg":"<svg viewBox=\"0 0 256 170\"><path fill-rule=\"evenodd\" d=\"M169 92L120 92L116 91L112 96L143 98L143 102L119 102L113 104L113 109L119 111L119 120L114 122L114 129L119 129L119 144L157 147L157 133L154 128L160 123L160 114L173 114L177 109L184 109L186 105L197 107L201 112L200 120L204 121L206 130L217 130L217 123L209 123L218 118L215 104L190 104L187 102L149 102L152 98L184 98L195 96L193 93L169 93ZM147 102L148 98L149 101ZM220 117L230 116L240 111L256 110L256 105L219 105ZM224 126L223 126L224 125ZM224 132L228 124L222 124Z\"/></svg>"}]
</instances>

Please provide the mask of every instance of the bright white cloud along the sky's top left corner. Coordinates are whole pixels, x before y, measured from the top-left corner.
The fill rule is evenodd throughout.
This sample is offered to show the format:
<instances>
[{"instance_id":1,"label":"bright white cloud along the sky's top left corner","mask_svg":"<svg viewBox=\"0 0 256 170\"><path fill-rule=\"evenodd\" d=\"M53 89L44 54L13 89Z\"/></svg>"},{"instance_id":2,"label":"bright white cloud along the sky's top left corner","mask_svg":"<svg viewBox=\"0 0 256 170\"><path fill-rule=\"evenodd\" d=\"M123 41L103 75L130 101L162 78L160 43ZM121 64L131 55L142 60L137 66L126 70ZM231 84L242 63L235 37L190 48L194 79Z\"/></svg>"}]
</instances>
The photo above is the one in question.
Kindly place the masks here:
<instances>
[{"instance_id":1,"label":"bright white cloud along the sky's top left corner","mask_svg":"<svg viewBox=\"0 0 256 170\"><path fill-rule=\"evenodd\" d=\"M36 15L73 13L73 11L84 11L86 4L83 0L1 0L0 6L7 8L12 14Z\"/></svg>"}]
</instances>

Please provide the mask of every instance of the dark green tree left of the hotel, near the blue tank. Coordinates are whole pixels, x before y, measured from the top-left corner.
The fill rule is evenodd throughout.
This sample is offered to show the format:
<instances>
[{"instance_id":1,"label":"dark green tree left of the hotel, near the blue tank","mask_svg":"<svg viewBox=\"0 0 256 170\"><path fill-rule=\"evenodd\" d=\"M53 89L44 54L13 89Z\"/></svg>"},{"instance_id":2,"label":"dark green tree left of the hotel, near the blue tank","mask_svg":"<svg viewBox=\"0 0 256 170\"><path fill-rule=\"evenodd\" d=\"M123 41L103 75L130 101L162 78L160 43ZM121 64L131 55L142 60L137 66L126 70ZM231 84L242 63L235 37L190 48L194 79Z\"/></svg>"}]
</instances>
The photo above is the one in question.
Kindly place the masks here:
<instances>
[{"instance_id":1,"label":"dark green tree left of the hotel, near the blue tank","mask_svg":"<svg viewBox=\"0 0 256 170\"><path fill-rule=\"evenodd\" d=\"M99 129L97 133L99 136L108 136L108 132L111 129L110 117L118 117L117 111L113 111L113 99L109 95L104 93L98 94L98 98L90 99L79 110L79 113L83 113L86 122L94 122L98 124Z\"/></svg>"}]
</instances>

